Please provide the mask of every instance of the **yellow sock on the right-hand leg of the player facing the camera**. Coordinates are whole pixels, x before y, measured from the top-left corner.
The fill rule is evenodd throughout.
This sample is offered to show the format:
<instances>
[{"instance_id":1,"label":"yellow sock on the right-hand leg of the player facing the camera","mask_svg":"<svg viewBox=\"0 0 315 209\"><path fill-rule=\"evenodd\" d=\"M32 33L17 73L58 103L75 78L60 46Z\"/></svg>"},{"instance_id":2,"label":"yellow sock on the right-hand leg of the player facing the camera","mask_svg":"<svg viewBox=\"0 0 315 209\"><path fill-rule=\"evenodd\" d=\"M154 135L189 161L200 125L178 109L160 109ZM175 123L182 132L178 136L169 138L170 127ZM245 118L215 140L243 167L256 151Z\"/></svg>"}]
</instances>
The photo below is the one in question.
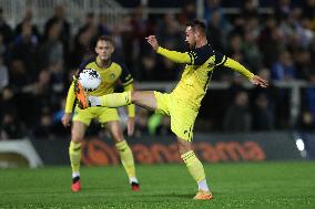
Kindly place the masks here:
<instances>
[{"instance_id":1,"label":"yellow sock on the right-hand leg of the player facing the camera","mask_svg":"<svg viewBox=\"0 0 315 209\"><path fill-rule=\"evenodd\" d=\"M115 144L116 149L121 157L121 163L125 169L125 173L129 178L135 178L135 168L134 168L134 161L133 161L133 155L128 146L126 142L119 142Z\"/></svg>"}]
</instances>

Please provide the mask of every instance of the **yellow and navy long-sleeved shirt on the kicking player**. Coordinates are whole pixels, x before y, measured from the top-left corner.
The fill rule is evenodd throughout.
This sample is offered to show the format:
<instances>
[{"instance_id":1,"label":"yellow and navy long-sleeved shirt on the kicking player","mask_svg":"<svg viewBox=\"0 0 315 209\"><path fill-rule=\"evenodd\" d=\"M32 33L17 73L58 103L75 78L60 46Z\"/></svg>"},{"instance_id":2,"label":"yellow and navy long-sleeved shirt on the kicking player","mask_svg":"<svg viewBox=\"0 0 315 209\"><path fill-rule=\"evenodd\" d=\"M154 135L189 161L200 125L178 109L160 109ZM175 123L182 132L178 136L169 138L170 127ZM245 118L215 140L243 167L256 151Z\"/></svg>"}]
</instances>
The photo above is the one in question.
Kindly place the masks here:
<instances>
[{"instance_id":1,"label":"yellow and navy long-sleeved shirt on the kicking player","mask_svg":"<svg viewBox=\"0 0 315 209\"><path fill-rule=\"evenodd\" d=\"M230 67L248 80L254 75L238 62L212 50L209 44L185 53L170 51L160 46L158 53L173 62L186 63L182 77L172 94L196 111L200 108L215 67L221 65Z\"/></svg>"}]
</instances>

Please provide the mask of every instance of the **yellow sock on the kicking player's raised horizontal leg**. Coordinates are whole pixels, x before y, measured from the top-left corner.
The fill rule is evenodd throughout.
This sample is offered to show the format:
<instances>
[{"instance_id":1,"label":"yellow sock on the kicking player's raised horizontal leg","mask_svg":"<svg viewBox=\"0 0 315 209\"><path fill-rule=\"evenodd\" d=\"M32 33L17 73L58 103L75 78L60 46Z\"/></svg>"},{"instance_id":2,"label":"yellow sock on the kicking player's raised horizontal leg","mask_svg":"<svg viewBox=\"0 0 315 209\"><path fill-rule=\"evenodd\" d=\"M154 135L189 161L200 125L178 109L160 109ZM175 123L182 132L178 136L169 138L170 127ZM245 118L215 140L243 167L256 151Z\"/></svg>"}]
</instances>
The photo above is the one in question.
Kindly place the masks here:
<instances>
[{"instance_id":1,"label":"yellow sock on the kicking player's raised horizontal leg","mask_svg":"<svg viewBox=\"0 0 315 209\"><path fill-rule=\"evenodd\" d=\"M131 92L113 93L101 96L101 106L120 107L131 104Z\"/></svg>"}]
</instances>

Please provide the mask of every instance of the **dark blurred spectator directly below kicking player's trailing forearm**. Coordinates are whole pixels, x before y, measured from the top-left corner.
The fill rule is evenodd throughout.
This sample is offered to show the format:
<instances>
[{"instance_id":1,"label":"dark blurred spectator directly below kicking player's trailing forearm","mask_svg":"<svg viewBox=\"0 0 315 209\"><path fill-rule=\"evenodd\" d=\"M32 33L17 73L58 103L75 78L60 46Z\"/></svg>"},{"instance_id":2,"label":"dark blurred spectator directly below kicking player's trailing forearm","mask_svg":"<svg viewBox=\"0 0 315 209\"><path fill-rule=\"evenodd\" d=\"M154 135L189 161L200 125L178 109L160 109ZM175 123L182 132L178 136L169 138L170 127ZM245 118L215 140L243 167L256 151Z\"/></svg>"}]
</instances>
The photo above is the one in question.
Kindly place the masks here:
<instances>
[{"instance_id":1,"label":"dark blurred spectator directly below kicking player's trailing forearm","mask_svg":"<svg viewBox=\"0 0 315 209\"><path fill-rule=\"evenodd\" d=\"M246 92L238 92L233 104L227 108L224 116L225 132L250 132L252 115L248 108L248 95Z\"/></svg>"}]
</instances>

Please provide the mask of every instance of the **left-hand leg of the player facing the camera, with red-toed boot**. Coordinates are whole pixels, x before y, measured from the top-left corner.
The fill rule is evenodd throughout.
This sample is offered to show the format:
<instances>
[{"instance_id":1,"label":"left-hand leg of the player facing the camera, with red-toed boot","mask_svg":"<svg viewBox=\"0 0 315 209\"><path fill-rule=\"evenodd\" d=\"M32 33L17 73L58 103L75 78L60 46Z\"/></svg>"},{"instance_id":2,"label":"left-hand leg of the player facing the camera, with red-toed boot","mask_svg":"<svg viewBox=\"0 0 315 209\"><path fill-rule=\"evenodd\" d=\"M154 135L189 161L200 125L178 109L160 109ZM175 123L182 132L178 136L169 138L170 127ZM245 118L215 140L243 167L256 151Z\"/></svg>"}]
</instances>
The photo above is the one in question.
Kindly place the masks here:
<instances>
[{"instance_id":1,"label":"left-hand leg of the player facing the camera, with red-toed boot","mask_svg":"<svg viewBox=\"0 0 315 209\"><path fill-rule=\"evenodd\" d=\"M81 145L85 129L87 129L85 124L81 122L73 122L71 130L71 142L69 146L69 157L72 168L71 190L74 192L81 190L81 184L80 184Z\"/></svg>"}]
</instances>

